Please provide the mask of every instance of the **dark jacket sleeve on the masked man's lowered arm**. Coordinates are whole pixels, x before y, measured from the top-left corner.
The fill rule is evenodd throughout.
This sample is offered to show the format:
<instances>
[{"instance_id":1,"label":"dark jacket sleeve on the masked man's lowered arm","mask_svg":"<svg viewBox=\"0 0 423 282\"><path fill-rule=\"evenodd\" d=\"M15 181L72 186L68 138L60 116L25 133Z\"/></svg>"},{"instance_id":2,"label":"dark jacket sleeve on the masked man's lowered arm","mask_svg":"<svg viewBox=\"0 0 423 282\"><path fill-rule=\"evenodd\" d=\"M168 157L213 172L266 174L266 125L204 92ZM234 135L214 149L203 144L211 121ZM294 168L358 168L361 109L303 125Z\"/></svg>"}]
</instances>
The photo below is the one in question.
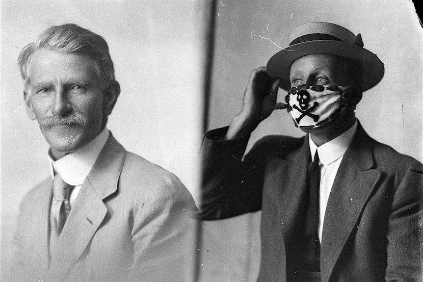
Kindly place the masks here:
<instances>
[{"instance_id":1,"label":"dark jacket sleeve on the masked man's lowered arm","mask_svg":"<svg viewBox=\"0 0 423 282\"><path fill-rule=\"evenodd\" d=\"M394 195L387 234L386 281L423 281L423 168L414 162Z\"/></svg>"}]
</instances>

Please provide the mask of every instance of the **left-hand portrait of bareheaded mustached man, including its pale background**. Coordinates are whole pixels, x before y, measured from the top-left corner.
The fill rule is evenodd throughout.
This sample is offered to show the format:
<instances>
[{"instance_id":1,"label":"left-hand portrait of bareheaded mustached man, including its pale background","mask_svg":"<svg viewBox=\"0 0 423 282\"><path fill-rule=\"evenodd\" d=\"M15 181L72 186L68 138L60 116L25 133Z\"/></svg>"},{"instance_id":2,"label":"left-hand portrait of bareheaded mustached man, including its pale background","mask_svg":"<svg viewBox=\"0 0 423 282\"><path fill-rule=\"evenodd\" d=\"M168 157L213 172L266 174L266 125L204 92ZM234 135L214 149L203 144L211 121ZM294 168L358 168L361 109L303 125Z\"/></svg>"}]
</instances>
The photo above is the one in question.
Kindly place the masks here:
<instances>
[{"instance_id":1,"label":"left-hand portrait of bareheaded mustached man, including its pale background","mask_svg":"<svg viewBox=\"0 0 423 282\"><path fill-rule=\"evenodd\" d=\"M1 281L192 281L201 9L2 1Z\"/></svg>"}]
</instances>

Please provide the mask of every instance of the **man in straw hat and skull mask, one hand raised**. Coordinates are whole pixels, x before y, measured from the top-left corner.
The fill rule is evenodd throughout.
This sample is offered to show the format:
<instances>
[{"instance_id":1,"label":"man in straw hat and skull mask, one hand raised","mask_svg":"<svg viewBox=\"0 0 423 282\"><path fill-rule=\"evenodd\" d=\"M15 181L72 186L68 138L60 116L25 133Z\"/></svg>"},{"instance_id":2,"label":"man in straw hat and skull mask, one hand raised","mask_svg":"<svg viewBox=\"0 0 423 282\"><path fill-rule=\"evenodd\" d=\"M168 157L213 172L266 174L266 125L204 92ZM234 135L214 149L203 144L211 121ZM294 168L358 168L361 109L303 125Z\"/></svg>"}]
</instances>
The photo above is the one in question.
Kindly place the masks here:
<instances>
[{"instance_id":1,"label":"man in straw hat and skull mask, one hand raised","mask_svg":"<svg viewBox=\"0 0 423 282\"><path fill-rule=\"evenodd\" d=\"M252 72L231 125L206 133L201 217L262 211L258 281L422 281L422 164L355 118L383 63L331 23L298 26L289 42ZM306 136L267 136L244 155L252 131L285 108Z\"/></svg>"}]
</instances>

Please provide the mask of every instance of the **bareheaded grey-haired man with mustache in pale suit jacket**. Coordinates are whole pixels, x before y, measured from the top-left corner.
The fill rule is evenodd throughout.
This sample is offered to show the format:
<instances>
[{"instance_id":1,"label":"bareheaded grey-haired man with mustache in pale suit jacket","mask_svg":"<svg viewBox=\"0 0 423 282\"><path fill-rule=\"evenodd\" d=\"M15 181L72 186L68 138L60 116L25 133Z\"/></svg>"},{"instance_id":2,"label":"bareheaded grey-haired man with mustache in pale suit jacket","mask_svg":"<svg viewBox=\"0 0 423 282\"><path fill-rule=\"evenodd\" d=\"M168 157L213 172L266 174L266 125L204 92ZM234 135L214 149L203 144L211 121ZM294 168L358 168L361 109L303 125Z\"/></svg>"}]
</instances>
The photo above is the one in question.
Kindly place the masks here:
<instances>
[{"instance_id":1,"label":"bareheaded grey-haired man with mustache in pale suit jacket","mask_svg":"<svg viewBox=\"0 0 423 282\"><path fill-rule=\"evenodd\" d=\"M18 63L52 175L21 204L13 281L189 281L193 199L107 129L120 86L104 38L52 26Z\"/></svg>"}]
</instances>

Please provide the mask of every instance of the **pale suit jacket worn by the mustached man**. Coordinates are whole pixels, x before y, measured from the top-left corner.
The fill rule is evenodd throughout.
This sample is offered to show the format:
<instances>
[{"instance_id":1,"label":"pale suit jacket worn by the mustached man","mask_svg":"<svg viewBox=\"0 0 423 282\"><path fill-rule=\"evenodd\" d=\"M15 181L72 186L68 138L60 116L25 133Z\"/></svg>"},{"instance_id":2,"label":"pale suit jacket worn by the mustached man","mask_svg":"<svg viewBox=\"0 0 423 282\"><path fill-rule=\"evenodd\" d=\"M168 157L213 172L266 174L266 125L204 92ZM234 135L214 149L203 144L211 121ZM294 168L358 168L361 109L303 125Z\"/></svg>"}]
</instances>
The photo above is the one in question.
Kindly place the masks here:
<instances>
[{"instance_id":1,"label":"pale suit jacket worn by the mustached man","mask_svg":"<svg viewBox=\"0 0 423 282\"><path fill-rule=\"evenodd\" d=\"M12 281L189 281L193 199L181 181L110 134L48 252L52 179L21 204Z\"/></svg>"}]
</instances>

